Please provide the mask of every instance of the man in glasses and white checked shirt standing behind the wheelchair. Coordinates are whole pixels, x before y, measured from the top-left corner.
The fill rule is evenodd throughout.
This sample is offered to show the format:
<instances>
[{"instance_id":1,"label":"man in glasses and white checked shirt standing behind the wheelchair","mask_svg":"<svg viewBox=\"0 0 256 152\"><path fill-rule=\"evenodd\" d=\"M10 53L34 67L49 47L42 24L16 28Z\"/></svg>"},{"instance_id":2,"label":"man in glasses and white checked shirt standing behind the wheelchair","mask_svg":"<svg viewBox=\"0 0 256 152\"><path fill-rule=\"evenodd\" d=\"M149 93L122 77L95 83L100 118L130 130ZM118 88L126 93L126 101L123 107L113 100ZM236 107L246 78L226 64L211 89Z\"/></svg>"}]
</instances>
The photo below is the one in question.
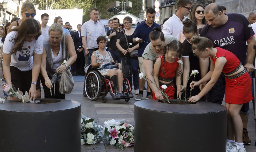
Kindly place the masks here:
<instances>
[{"instance_id":1,"label":"man in glasses and white checked shirt standing behind the wheelchair","mask_svg":"<svg viewBox=\"0 0 256 152\"><path fill-rule=\"evenodd\" d=\"M90 10L91 20L85 22L81 27L81 36L82 36L82 43L84 47L85 62L86 62L85 66L88 66L89 64L91 64L91 56L93 51L96 51L99 49L96 39L99 36L106 36L104 24L101 22L98 22L99 15L100 14L98 9L92 8ZM85 84L84 84L83 95L86 95Z\"/></svg>"}]
</instances>

